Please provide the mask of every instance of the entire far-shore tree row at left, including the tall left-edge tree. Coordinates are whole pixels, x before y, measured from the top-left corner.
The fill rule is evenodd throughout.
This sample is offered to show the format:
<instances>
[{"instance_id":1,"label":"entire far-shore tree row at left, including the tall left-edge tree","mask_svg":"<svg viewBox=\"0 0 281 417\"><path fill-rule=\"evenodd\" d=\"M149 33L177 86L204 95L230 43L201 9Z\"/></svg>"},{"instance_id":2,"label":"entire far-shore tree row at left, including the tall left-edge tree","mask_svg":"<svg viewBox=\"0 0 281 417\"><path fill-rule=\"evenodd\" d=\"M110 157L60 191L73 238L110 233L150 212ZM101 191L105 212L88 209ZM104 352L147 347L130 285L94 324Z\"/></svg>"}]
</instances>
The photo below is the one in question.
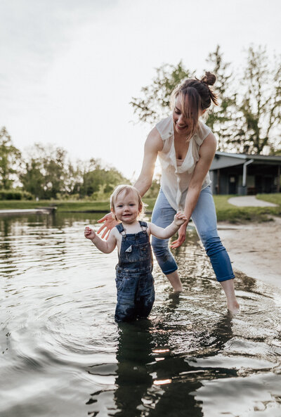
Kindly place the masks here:
<instances>
[{"instance_id":1,"label":"entire far-shore tree row at left, including the tall left-edge tree","mask_svg":"<svg viewBox=\"0 0 281 417\"><path fill-rule=\"evenodd\" d=\"M35 143L27 158L13 146L5 127L0 130L1 198L105 198L117 184L129 182L115 167L99 159L70 161L67 150ZM22 195L21 195L22 193Z\"/></svg>"}]
</instances>

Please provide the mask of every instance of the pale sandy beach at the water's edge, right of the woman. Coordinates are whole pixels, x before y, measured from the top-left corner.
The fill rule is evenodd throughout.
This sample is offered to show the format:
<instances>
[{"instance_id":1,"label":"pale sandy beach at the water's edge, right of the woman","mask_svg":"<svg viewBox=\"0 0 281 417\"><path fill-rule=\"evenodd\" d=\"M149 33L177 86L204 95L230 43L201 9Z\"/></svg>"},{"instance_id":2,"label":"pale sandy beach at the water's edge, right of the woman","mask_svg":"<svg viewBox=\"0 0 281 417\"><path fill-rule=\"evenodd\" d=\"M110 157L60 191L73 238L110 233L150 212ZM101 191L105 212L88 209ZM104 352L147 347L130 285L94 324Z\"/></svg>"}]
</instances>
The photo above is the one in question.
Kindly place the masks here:
<instances>
[{"instance_id":1,"label":"pale sandy beach at the water's edge, right of the woman","mask_svg":"<svg viewBox=\"0 0 281 417\"><path fill-rule=\"evenodd\" d=\"M233 269L273 286L281 286L281 219L274 222L218 223Z\"/></svg>"}]
</instances>

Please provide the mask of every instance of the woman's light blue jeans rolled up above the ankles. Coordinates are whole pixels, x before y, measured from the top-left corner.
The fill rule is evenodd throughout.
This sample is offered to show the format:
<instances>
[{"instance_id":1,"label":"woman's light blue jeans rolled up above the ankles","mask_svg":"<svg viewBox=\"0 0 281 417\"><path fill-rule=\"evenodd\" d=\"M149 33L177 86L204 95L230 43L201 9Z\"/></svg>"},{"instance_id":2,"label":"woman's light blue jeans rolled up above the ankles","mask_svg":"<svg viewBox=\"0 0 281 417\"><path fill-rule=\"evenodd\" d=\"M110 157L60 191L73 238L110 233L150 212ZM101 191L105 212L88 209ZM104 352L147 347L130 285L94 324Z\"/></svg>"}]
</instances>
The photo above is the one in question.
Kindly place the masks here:
<instances>
[{"instance_id":1,"label":"woman's light blue jeans rolled up above the ankles","mask_svg":"<svg viewBox=\"0 0 281 417\"><path fill-rule=\"evenodd\" d=\"M169 205L168 200L160 188L152 212L152 223L165 228L173 222L175 214L176 210ZM228 252L226 252L226 248L221 243L216 229L216 209L210 186L201 191L191 219L210 258L216 279L221 282L234 278ZM168 244L169 239L157 239L152 236L152 248L159 267L165 275L171 274L178 269Z\"/></svg>"}]
</instances>

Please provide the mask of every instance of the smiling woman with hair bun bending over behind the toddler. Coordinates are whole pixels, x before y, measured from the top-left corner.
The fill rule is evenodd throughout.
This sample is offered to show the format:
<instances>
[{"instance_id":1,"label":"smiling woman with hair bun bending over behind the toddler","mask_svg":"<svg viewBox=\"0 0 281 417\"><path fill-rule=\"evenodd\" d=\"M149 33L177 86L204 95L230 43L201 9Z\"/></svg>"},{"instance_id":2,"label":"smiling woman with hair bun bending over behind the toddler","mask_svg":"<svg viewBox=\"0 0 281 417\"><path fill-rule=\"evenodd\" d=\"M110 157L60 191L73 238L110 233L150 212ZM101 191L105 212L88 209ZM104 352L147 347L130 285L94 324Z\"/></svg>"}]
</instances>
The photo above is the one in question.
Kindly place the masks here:
<instances>
[{"instance_id":1,"label":"smiling woman with hair bun bending over behind the toddler","mask_svg":"<svg viewBox=\"0 0 281 417\"><path fill-rule=\"evenodd\" d=\"M166 227L178 210L182 210L188 221L178 231L178 239L171 248L178 248L185 240L188 222L192 219L197 233L211 260L218 282L226 293L228 309L239 310L234 291L233 269L226 249L216 229L216 210L211 195L209 167L216 153L216 139L209 127L201 120L217 97L209 88L216 77L210 72L199 79L187 79L171 96L173 113L161 120L150 131L145 141L145 154L141 174L134 186L143 196L151 186L155 161L159 157L162 165L161 188L154 210L152 223ZM103 236L115 226L112 215L107 214L98 233ZM178 267L168 246L169 240L152 238L152 247L157 262L176 292L182 290Z\"/></svg>"}]
</instances>

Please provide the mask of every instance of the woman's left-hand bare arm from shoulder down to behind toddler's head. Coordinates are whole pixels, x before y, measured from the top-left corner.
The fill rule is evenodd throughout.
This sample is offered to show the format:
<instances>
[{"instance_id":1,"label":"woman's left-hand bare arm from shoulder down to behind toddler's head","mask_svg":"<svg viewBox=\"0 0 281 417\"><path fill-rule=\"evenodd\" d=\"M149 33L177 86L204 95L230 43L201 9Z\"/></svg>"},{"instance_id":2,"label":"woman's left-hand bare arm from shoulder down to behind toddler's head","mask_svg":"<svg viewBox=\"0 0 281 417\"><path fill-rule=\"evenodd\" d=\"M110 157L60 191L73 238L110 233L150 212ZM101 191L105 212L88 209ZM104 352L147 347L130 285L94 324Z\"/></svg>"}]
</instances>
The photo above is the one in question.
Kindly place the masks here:
<instances>
[{"instance_id":1,"label":"woman's left-hand bare arm from shoulder down to behind toddler's head","mask_svg":"<svg viewBox=\"0 0 281 417\"><path fill-rule=\"evenodd\" d=\"M141 197L145 195L146 191L152 184L152 177L155 170L155 162L158 152L163 149L163 141L157 131L156 127L150 131L148 139L145 141L145 150L143 155L143 166L141 168L141 174L136 180L134 187L141 194Z\"/></svg>"}]
</instances>

